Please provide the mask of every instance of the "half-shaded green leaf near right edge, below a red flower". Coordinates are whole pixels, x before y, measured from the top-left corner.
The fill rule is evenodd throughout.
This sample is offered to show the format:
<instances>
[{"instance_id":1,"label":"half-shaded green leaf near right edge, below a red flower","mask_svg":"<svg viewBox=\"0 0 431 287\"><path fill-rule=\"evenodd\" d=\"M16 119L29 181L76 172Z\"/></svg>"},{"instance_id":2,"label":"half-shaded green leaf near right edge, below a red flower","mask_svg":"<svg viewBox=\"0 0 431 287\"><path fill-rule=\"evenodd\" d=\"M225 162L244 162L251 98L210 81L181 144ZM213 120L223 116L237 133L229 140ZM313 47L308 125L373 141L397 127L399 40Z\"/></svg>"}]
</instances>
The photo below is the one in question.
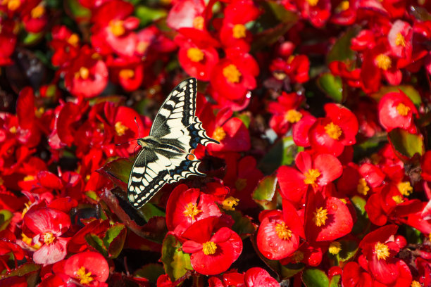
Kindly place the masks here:
<instances>
[{"instance_id":1,"label":"half-shaded green leaf near right edge, below a red flower","mask_svg":"<svg viewBox=\"0 0 431 287\"><path fill-rule=\"evenodd\" d=\"M416 153L423 155L425 152L423 136L420 134L410 134L404 129L392 129L388 136L395 150L407 158L413 158Z\"/></svg>"}]
</instances>

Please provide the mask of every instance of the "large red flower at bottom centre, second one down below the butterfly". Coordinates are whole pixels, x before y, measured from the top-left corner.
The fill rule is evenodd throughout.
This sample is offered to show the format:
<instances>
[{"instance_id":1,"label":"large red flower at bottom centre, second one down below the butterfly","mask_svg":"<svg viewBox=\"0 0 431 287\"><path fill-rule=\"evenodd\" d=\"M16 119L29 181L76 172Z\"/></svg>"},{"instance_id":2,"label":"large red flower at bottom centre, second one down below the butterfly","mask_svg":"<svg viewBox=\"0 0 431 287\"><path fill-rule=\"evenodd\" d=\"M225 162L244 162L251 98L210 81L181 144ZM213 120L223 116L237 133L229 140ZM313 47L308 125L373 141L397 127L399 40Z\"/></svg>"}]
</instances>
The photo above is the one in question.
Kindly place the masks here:
<instances>
[{"instance_id":1,"label":"large red flower at bottom centre, second one down below the butterfly","mask_svg":"<svg viewBox=\"0 0 431 287\"><path fill-rule=\"evenodd\" d=\"M215 275L229 269L242 252L242 240L231 229L215 229L216 217L195 222L182 236L188 238L182 250L190 255L190 262L196 272Z\"/></svg>"}]
</instances>

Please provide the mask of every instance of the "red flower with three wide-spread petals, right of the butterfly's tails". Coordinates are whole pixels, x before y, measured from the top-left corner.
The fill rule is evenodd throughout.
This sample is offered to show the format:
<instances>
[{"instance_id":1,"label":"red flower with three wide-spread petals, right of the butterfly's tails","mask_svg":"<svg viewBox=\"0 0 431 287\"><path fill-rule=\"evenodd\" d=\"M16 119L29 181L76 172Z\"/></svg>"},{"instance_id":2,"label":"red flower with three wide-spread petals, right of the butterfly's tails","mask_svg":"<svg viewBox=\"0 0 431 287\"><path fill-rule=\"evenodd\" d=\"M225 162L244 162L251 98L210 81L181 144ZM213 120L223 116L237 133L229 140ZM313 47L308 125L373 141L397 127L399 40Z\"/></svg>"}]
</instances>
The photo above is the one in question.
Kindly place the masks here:
<instances>
[{"instance_id":1,"label":"red flower with three wide-spread petals, right of the butterfly's tails","mask_svg":"<svg viewBox=\"0 0 431 287\"><path fill-rule=\"evenodd\" d=\"M308 186L325 186L342 175L342 164L333 155L320 154L311 158L307 152L300 152L295 158L294 167L278 168L277 179L283 198L292 203L300 203Z\"/></svg>"}]
</instances>

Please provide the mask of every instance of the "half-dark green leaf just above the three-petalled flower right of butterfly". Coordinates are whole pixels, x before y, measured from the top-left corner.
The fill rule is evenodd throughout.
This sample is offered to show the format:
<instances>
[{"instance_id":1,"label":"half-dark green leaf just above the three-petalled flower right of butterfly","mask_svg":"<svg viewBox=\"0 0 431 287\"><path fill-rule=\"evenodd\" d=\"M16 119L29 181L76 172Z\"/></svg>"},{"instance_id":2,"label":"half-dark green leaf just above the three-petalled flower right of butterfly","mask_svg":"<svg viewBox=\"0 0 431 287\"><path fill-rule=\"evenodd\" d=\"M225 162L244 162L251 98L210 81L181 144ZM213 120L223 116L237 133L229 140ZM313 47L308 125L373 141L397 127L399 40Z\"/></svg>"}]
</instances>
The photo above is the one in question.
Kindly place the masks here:
<instances>
[{"instance_id":1,"label":"half-dark green leaf just above the three-petalled flower right of butterfly","mask_svg":"<svg viewBox=\"0 0 431 287\"><path fill-rule=\"evenodd\" d=\"M263 174L273 174L280 165L291 165L296 153L302 150L304 148L296 146L292 136L287 136L275 142L270 151L259 162L258 168Z\"/></svg>"}]
</instances>

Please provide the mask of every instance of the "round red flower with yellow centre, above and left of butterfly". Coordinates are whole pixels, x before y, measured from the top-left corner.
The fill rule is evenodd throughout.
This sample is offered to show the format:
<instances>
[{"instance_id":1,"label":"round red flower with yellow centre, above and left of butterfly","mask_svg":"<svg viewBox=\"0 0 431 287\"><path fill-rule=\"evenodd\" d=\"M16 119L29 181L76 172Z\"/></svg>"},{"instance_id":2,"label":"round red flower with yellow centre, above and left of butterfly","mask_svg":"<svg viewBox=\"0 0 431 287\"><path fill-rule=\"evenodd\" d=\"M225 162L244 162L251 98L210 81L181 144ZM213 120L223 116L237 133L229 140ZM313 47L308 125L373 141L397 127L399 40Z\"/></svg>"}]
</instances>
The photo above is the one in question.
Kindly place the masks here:
<instances>
[{"instance_id":1,"label":"round red flower with yellow centre, above and left of butterfly","mask_svg":"<svg viewBox=\"0 0 431 287\"><path fill-rule=\"evenodd\" d=\"M84 46L79 56L65 70L64 84L73 96L98 96L108 84L108 68L96 56L92 49Z\"/></svg>"}]
</instances>

